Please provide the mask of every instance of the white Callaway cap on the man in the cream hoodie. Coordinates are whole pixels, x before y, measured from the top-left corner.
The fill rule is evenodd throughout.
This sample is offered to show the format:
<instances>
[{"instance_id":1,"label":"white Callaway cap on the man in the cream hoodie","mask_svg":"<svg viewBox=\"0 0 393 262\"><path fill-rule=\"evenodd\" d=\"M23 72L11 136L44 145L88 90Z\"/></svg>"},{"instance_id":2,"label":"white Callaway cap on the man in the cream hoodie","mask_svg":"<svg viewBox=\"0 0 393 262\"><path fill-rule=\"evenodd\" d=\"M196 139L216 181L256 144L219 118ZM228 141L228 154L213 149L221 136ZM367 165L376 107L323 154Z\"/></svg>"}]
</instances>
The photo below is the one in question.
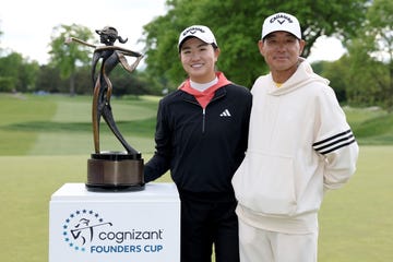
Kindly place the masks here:
<instances>
[{"instance_id":1,"label":"white Callaway cap on the man in the cream hoodie","mask_svg":"<svg viewBox=\"0 0 393 262\"><path fill-rule=\"evenodd\" d=\"M262 39L265 38L265 36L270 33L276 31L288 32L298 39L301 39L299 21L291 14L276 13L265 19L262 25Z\"/></svg>"}]
</instances>

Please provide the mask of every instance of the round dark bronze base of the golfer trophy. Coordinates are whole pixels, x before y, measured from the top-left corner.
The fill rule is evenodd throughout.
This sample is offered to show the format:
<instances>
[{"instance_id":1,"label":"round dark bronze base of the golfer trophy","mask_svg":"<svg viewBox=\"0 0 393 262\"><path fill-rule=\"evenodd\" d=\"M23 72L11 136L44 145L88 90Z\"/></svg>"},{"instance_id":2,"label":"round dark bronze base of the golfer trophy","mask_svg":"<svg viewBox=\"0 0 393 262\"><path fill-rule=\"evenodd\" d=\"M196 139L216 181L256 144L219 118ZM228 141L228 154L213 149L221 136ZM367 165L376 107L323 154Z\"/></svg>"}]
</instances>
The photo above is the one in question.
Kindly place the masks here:
<instances>
[{"instance_id":1,"label":"round dark bronze base of the golfer trophy","mask_svg":"<svg viewBox=\"0 0 393 262\"><path fill-rule=\"evenodd\" d=\"M141 154L122 152L92 154L87 160L88 191L140 191L144 189Z\"/></svg>"}]
</instances>

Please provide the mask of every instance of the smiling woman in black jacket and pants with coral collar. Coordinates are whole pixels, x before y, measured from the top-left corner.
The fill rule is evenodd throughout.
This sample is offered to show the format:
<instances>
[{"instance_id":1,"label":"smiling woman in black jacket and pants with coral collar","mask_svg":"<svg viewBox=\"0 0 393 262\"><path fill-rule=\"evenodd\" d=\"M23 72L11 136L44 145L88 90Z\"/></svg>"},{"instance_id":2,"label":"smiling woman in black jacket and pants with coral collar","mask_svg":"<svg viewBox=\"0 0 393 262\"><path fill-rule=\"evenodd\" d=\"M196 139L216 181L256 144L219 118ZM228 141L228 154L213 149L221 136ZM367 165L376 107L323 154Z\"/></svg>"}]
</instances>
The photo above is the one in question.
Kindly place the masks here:
<instances>
[{"instance_id":1,"label":"smiling woman in black jacket and pants with coral collar","mask_svg":"<svg viewBox=\"0 0 393 262\"><path fill-rule=\"evenodd\" d=\"M239 262L237 201L231 178L245 157L252 97L215 71L221 53L211 29L180 33L188 79L159 102L156 152L145 181L168 169L181 200L181 262Z\"/></svg>"}]
</instances>

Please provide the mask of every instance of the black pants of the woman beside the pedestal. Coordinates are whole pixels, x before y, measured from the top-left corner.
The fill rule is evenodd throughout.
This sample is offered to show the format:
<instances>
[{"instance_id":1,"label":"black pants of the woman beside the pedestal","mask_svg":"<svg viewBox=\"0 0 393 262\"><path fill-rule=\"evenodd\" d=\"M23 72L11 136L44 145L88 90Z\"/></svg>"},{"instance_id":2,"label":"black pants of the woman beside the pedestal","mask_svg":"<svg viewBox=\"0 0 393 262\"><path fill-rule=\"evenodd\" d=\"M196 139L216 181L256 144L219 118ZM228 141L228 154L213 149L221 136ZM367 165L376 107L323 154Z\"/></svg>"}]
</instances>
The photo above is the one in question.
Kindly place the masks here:
<instances>
[{"instance_id":1,"label":"black pants of the woman beside the pedestal","mask_svg":"<svg viewBox=\"0 0 393 262\"><path fill-rule=\"evenodd\" d=\"M236 201L181 198L181 262L239 262Z\"/></svg>"}]
</instances>

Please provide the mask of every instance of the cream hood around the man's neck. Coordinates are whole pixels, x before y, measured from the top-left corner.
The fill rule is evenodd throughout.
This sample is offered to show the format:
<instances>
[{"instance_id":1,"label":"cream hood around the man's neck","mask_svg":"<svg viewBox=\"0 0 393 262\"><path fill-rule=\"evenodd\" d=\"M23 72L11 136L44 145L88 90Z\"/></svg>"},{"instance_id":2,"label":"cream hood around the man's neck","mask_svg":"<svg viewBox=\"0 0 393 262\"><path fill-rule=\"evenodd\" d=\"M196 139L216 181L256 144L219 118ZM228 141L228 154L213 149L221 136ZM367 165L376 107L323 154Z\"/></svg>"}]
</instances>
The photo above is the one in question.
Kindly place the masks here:
<instances>
[{"instance_id":1,"label":"cream hood around the man's neck","mask_svg":"<svg viewBox=\"0 0 393 262\"><path fill-rule=\"evenodd\" d=\"M267 78L270 81L274 82L272 73L270 73ZM330 83L329 80L315 74L305 58L299 58L299 66L296 72L285 83L283 83L279 88L276 88L275 84L269 85L271 87L269 87L267 94L284 95L314 82L320 82L325 85L329 85Z\"/></svg>"}]
</instances>

